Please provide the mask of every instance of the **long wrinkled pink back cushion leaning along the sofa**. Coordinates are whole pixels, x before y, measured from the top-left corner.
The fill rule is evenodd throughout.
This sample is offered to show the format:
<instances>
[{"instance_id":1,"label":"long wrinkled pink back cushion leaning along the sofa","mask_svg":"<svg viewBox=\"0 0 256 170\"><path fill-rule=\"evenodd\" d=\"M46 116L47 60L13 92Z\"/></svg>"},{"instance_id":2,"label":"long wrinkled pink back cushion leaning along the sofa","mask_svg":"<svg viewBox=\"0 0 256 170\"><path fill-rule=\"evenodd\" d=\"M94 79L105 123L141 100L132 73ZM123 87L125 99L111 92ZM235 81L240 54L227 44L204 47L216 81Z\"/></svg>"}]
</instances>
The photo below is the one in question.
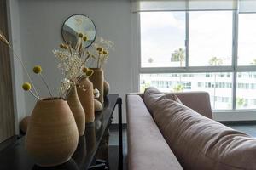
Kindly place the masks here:
<instances>
[{"instance_id":1,"label":"long wrinkled pink back cushion leaning along the sofa","mask_svg":"<svg viewBox=\"0 0 256 170\"><path fill-rule=\"evenodd\" d=\"M155 89L150 94L144 98L154 102L154 120L184 169L256 168L256 139L161 97Z\"/></svg>"}]
</instances>

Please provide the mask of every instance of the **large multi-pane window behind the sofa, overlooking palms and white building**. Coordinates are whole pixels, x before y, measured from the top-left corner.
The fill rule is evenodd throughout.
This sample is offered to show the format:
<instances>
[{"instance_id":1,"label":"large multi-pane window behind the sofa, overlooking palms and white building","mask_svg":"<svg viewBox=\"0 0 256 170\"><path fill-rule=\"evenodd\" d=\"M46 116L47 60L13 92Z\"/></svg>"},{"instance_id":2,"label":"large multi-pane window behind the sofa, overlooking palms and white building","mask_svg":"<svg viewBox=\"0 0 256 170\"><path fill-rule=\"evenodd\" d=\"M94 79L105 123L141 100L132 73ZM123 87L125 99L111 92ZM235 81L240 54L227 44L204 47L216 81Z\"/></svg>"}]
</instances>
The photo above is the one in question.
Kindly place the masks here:
<instances>
[{"instance_id":1,"label":"large multi-pane window behind the sofa, overlooking palms and white building","mask_svg":"<svg viewBox=\"0 0 256 170\"><path fill-rule=\"evenodd\" d=\"M207 91L213 110L256 109L256 14L143 12L140 23L141 91Z\"/></svg>"}]
</instances>

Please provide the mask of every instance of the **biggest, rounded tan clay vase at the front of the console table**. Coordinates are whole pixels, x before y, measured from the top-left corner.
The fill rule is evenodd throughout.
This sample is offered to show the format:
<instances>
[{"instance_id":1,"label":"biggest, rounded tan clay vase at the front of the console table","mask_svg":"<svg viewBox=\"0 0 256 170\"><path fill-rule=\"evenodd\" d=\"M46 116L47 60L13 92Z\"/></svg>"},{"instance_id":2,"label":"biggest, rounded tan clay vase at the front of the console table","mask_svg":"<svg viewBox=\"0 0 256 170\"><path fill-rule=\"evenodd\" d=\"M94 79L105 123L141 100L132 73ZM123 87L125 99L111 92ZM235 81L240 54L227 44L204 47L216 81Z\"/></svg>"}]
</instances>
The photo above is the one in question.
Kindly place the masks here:
<instances>
[{"instance_id":1,"label":"biggest, rounded tan clay vase at the front of the console table","mask_svg":"<svg viewBox=\"0 0 256 170\"><path fill-rule=\"evenodd\" d=\"M26 150L36 164L52 167L68 161L78 142L78 127L67 101L38 100L26 132Z\"/></svg>"}]
</instances>

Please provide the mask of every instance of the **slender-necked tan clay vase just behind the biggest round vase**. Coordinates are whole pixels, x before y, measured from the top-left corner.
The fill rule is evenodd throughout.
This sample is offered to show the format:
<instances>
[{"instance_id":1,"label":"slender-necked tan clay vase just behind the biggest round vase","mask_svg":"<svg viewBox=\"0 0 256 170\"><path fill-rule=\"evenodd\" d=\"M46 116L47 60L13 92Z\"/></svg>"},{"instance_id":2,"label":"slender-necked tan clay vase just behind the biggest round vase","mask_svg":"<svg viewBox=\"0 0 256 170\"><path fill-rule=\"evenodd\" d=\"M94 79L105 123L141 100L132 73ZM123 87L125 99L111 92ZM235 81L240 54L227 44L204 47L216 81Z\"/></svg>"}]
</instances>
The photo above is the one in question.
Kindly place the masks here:
<instances>
[{"instance_id":1,"label":"slender-necked tan clay vase just behind the biggest round vase","mask_svg":"<svg viewBox=\"0 0 256 170\"><path fill-rule=\"evenodd\" d=\"M85 113L84 108L79 100L77 88L75 86L71 89L70 93L67 96L67 103L76 121L79 130L79 136L83 136L85 130Z\"/></svg>"}]
</instances>

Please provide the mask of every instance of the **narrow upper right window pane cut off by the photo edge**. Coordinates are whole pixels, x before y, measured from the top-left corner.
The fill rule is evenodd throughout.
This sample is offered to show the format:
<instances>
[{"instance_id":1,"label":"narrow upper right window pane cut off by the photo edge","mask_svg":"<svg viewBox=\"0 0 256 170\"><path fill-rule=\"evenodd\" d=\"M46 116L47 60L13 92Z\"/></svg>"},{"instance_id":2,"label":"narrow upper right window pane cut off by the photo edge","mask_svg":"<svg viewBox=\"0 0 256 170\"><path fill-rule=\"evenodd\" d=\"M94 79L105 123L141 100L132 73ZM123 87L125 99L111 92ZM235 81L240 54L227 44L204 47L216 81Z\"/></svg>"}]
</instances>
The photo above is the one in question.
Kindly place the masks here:
<instances>
[{"instance_id":1,"label":"narrow upper right window pane cut off by the photo edge","mask_svg":"<svg viewBox=\"0 0 256 170\"><path fill-rule=\"evenodd\" d=\"M256 65L256 14L239 14L238 65Z\"/></svg>"}]
</instances>

